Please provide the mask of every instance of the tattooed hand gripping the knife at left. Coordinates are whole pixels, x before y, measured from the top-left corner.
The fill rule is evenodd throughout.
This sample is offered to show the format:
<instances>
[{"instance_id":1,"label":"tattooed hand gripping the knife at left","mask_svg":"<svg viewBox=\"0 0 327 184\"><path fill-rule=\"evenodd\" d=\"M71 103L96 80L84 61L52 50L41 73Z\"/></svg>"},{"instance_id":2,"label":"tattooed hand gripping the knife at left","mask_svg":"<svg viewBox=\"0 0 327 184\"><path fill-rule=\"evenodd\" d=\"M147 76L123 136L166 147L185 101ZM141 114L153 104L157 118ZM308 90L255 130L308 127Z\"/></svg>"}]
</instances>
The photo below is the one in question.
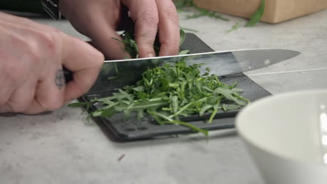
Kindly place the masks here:
<instances>
[{"instance_id":1,"label":"tattooed hand gripping the knife at left","mask_svg":"<svg viewBox=\"0 0 327 184\"><path fill-rule=\"evenodd\" d=\"M37 114L86 93L103 54L77 38L0 13L0 113ZM62 66L73 71L65 85Z\"/></svg>"}]
</instances>

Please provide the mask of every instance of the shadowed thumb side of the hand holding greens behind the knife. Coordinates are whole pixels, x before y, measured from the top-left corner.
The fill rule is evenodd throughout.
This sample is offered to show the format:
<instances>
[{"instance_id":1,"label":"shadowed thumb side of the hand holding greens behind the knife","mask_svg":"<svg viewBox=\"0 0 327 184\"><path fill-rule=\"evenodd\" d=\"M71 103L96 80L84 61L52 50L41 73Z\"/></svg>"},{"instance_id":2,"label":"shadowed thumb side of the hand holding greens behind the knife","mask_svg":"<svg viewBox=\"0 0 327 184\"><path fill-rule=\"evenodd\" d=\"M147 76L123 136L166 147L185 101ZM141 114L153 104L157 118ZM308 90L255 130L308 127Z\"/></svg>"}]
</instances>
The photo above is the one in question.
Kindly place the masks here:
<instances>
[{"instance_id":1,"label":"shadowed thumb side of the hand holding greens behind the knife","mask_svg":"<svg viewBox=\"0 0 327 184\"><path fill-rule=\"evenodd\" d=\"M115 31L119 26L119 20L121 20L121 3L119 0L103 1L103 3L85 1L77 5L73 1L60 1L59 6L61 6L61 12L71 21L74 28L91 38L92 45L103 52L106 58L124 59L124 57L129 57L129 54L125 52L124 44L112 39L121 40ZM75 6L85 10L83 18L77 11L78 9L71 10L70 7Z\"/></svg>"}]
</instances>

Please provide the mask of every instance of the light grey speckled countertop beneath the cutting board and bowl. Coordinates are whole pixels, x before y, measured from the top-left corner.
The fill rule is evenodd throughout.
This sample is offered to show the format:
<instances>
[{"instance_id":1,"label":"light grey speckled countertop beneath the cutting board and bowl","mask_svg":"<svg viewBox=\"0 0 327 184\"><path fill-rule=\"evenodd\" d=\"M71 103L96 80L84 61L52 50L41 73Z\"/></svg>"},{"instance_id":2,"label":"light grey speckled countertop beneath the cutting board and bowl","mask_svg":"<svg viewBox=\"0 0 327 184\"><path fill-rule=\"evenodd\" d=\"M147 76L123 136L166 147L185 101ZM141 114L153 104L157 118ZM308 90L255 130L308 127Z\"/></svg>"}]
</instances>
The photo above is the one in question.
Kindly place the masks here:
<instances>
[{"instance_id":1,"label":"light grey speckled countertop beneath the cutting board and bowl","mask_svg":"<svg viewBox=\"0 0 327 184\"><path fill-rule=\"evenodd\" d=\"M183 27L215 50L277 47L302 54L247 72L271 93L327 88L327 10L281 24L260 23L226 33L230 22L201 17ZM65 21L34 20L87 40ZM117 143L80 109L37 116L0 116L0 183L263 183L235 130ZM105 131L105 132L103 132ZM119 158L122 157L119 161Z\"/></svg>"}]
</instances>

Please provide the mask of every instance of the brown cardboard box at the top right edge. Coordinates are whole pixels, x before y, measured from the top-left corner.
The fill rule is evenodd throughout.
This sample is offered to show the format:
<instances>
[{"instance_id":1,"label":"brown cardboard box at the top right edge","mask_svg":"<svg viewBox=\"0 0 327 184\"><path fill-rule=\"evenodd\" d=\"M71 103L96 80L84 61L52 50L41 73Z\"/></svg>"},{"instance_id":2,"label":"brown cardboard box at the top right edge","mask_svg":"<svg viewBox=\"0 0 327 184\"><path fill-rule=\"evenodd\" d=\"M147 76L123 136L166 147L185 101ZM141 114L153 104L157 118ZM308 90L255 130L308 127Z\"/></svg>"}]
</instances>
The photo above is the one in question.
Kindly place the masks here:
<instances>
[{"instance_id":1,"label":"brown cardboard box at the top right edge","mask_svg":"<svg viewBox=\"0 0 327 184\"><path fill-rule=\"evenodd\" d=\"M200 8L239 17L251 17L261 5L261 0L194 0ZM327 0L266 0L261 21L283 22L327 8Z\"/></svg>"}]
</instances>

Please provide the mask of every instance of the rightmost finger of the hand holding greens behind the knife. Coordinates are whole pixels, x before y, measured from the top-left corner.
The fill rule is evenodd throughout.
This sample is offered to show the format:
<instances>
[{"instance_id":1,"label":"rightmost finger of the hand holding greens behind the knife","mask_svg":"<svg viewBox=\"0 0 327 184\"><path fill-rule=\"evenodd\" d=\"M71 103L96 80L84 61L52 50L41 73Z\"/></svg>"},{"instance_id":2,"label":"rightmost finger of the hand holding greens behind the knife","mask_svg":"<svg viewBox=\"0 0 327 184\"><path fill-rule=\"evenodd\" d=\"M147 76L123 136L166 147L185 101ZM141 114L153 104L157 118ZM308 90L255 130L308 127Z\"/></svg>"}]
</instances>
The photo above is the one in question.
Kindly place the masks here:
<instances>
[{"instance_id":1,"label":"rightmost finger of the hand holding greens behind the knife","mask_svg":"<svg viewBox=\"0 0 327 184\"><path fill-rule=\"evenodd\" d=\"M173 1L156 0L159 11L159 56L177 55L180 47L180 26Z\"/></svg>"}]
</instances>

